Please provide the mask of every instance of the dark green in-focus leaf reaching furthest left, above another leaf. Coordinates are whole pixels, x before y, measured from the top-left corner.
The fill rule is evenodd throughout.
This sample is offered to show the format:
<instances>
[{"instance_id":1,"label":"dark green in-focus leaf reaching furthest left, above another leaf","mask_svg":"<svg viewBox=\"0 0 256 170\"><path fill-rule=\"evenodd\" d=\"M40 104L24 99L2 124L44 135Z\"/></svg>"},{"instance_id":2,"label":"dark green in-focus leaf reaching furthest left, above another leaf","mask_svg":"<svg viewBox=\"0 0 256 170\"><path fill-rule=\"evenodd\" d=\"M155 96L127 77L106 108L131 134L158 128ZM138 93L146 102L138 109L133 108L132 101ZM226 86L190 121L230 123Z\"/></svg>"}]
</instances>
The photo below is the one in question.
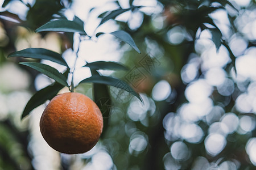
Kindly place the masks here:
<instances>
[{"instance_id":1,"label":"dark green in-focus leaf reaching furthest left, above another leaf","mask_svg":"<svg viewBox=\"0 0 256 170\"><path fill-rule=\"evenodd\" d=\"M27 48L9 54L8 57L26 57L26 58L37 58L37 59L48 59L50 61L59 63L60 65L67 66L67 62L61 57L59 53L47 50L44 48Z\"/></svg>"}]
</instances>

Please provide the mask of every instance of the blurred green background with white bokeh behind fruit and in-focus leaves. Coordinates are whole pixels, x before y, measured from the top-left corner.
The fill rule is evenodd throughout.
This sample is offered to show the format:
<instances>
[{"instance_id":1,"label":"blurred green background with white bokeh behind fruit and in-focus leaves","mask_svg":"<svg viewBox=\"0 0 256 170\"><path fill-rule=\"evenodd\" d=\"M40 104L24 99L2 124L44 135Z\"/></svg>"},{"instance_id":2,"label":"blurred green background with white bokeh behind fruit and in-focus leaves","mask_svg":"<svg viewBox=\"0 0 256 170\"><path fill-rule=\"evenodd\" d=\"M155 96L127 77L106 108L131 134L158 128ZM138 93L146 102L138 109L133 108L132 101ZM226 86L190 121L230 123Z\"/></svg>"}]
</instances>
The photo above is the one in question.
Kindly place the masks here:
<instances>
[{"instance_id":1,"label":"blurred green background with white bokeh behind fruit and in-focus leaves","mask_svg":"<svg viewBox=\"0 0 256 170\"><path fill-rule=\"evenodd\" d=\"M0 2L0 169L255 169L255 1ZM104 12L131 6L143 7L98 27ZM109 87L104 136L79 155L60 154L44 141L39 120L46 104L20 121L30 97L52 80L18 65L23 58L7 58L16 50L46 48L63 53L72 66L67 35L34 32L60 14L78 16L92 37L81 42L75 84L90 76L81 67L85 61L120 62L129 71L101 74L130 83L144 102ZM119 29L142 54L111 35L96 37ZM92 97L92 84L76 91Z\"/></svg>"}]
</instances>

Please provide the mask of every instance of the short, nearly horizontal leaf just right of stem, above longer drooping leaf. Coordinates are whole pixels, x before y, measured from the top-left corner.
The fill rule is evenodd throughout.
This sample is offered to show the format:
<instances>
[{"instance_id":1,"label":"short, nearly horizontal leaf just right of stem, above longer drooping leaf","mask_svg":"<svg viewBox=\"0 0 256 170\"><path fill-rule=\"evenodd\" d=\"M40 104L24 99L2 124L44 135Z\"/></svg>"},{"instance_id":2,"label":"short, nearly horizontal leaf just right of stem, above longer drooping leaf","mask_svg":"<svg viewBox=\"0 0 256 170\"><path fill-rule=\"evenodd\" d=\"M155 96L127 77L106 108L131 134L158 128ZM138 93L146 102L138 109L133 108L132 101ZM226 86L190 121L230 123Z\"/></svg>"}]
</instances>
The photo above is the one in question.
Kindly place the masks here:
<instances>
[{"instance_id":1,"label":"short, nearly horizontal leaf just right of stem, above longer drooping leaf","mask_svg":"<svg viewBox=\"0 0 256 170\"><path fill-rule=\"evenodd\" d=\"M94 70L128 70L126 66L113 61L90 62L90 63L86 63L84 67L89 67L90 69L94 69Z\"/></svg>"}]
</instances>

